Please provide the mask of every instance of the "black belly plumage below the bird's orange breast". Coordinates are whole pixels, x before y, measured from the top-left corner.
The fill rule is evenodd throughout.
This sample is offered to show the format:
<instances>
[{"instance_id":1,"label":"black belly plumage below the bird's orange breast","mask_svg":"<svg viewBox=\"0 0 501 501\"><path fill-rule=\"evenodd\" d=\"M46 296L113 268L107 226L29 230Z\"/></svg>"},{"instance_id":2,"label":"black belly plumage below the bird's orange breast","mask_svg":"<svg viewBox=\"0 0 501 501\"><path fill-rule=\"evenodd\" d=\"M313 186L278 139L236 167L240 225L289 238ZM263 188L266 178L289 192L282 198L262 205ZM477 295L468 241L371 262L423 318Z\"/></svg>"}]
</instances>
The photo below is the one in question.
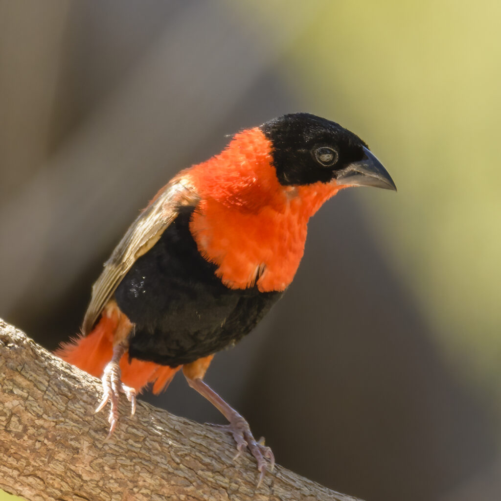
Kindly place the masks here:
<instances>
[{"instance_id":1,"label":"black belly plumage below the bird's orange breast","mask_svg":"<svg viewBox=\"0 0 501 501\"><path fill-rule=\"evenodd\" d=\"M135 324L129 355L175 367L248 334L282 292L228 289L198 253L184 210L124 277L115 299Z\"/></svg>"}]
</instances>

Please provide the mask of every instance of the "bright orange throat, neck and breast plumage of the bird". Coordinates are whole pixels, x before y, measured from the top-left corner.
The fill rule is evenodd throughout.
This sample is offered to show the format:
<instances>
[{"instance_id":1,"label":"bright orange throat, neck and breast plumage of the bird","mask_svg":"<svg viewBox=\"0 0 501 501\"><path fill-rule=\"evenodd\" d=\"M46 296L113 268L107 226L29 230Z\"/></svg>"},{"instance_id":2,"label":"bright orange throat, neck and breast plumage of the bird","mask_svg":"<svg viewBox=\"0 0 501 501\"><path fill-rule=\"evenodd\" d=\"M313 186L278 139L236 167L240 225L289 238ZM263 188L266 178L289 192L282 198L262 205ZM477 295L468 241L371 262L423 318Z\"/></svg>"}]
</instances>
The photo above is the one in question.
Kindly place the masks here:
<instances>
[{"instance_id":1,"label":"bright orange throat, neck and breast plumage of the bird","mask_svg":"<svg viewBox=\"0 0 501 501\"><path fill-rule=\"evenodd\" d=\"M266 144L264 144L266 143ZM201 201L190 221L200 254L230 289L284 291L303 257L308 219L339 189L331 183L280 184L271 144L259 129L190 169Z\"/></svg>"}]
</instances>

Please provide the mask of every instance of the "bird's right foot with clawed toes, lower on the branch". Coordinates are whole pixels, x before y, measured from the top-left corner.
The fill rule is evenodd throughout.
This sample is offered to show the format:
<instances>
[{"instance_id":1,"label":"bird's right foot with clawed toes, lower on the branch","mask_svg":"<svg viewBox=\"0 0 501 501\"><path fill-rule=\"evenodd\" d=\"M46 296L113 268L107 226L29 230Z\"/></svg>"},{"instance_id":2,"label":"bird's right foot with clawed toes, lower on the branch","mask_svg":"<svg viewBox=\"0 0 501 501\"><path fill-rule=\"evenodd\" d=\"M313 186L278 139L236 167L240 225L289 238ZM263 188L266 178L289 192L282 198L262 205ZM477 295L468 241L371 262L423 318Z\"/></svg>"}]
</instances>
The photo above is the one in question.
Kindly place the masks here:
<instances>
[{"instance_id":1,"label":"bird's right foot with clawed toes, lower on the branch","mask_svg":"<svg viewBox=\"0 0 501 501\"><path fill-rule=\"evenodd\" d=\"M233 459L236 459L245 448L248 448L250 453L256 458L260 473L257 485L259 487L268 469L273 471L275 467L275 456L272 449L265 445L263 437L259 440L254 438L247 421L237 413L235 416L232 416L229 424L217 425L217 427L224 431L229 431L233 435L236 442L236 455Z\"/></svg>"}]
</instances>

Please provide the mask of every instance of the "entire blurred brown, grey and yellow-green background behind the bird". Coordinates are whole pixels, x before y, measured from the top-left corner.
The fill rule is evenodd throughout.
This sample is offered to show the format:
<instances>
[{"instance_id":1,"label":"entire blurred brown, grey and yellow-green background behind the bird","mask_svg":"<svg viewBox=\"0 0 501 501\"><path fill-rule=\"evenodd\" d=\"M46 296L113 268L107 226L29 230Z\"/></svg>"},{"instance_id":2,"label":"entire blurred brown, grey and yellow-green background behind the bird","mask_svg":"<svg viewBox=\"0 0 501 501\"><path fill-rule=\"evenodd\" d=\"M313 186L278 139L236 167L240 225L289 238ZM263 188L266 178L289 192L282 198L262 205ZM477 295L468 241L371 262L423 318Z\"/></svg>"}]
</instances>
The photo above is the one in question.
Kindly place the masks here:
<instances>
[{"instance_id":1,"label":"entire blurred brown, grey and yellow-green background behind the bird","mask_svg":"<svg viewBox=\"0 0 501 501\"><path fill-rule=\"evenodd\" d=\"M284 113L335 120L399 191L327 203L284 299L206 379L331 488L500 498L500 17L489 0L1 1L0 316L54 349L175 172ZM223 422L182 377L144 398Z\"/></svg>"}]
</instances>

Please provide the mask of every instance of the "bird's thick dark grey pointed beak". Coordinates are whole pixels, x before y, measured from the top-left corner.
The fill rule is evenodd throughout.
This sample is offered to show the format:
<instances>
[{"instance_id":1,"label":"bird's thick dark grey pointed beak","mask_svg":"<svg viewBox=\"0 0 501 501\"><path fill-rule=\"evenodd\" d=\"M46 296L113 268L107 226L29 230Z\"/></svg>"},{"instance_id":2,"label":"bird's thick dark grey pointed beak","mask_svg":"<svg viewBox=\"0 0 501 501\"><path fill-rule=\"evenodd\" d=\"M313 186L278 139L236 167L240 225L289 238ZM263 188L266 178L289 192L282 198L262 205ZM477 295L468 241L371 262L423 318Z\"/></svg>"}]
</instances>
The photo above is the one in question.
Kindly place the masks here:
<instances>
[{"instance_id":1,"label":"bird's thick dark grey pointed beak","mask_svg":"<svg viewBox=\"0 0 501 501\"><path fill-rule=\"evenodd\" d=\"M364 153L365 156L362 160L353 162L338 172L337 183L352 186L374 186L396 191L397 187L383 164L365 147Z\"/></svg>"}]
</instances>

